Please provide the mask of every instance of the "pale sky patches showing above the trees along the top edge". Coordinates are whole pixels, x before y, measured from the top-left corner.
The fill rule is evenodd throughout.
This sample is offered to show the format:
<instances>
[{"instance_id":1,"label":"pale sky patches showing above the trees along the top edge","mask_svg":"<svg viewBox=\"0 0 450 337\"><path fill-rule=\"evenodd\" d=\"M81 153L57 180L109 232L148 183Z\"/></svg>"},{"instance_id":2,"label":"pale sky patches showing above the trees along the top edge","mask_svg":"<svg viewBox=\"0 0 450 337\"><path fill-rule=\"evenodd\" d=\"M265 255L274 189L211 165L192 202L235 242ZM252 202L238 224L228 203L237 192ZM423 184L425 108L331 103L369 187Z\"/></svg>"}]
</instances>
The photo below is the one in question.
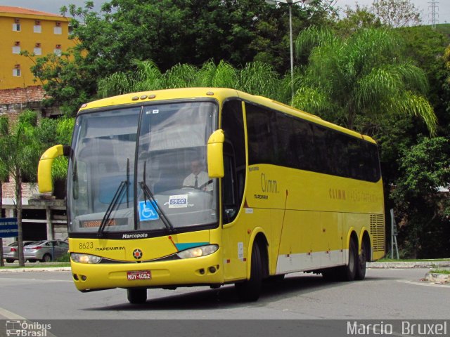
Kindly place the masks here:
<instances>
[{"instance_id":1,"label":"pale sky patches showing above the trees along the top edge","mask_svg":"<svg viewBox=\"0 0 450 337\"><path fill-rule=\"evenodd\" d=\"M263 1L263 0L262 0ZM431 0L411 0L418 8L424 25L430 24ZM37 11L59 14L59 8L75 4L84 6L85 0L0 0L0 6L17 6L30 8ZM103 0L94 0L96 8L100 8ZM354 7L356 2L360 6L371 6L373 0L337 0L337 6L344 8L346 5ZM437 0L437 23L450 23L450 0Z\"/></svg>"}]
</instances>

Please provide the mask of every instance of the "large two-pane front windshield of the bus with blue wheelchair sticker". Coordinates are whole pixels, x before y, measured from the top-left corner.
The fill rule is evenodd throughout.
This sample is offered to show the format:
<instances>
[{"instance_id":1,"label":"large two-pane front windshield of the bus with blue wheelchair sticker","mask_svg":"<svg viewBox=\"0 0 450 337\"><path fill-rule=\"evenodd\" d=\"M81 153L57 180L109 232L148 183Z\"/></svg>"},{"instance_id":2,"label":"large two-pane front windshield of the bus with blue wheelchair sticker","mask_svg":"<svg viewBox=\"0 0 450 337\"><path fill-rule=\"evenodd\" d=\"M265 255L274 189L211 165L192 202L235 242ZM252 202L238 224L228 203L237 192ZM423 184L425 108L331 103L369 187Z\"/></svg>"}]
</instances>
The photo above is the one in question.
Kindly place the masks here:
<instances>
[{"instance_id":1,"label":"large two-pane front windshield of the bus with blue wheelchair sticker","mask_svg":"<svg viewBox=\"0 0 450 337\"><path fill-rule=\"evenodd\" d=\"M68 171L70 233L176 232L217 226L206 167L211 101L79 114Z\"/></svg>"}]
</instances>

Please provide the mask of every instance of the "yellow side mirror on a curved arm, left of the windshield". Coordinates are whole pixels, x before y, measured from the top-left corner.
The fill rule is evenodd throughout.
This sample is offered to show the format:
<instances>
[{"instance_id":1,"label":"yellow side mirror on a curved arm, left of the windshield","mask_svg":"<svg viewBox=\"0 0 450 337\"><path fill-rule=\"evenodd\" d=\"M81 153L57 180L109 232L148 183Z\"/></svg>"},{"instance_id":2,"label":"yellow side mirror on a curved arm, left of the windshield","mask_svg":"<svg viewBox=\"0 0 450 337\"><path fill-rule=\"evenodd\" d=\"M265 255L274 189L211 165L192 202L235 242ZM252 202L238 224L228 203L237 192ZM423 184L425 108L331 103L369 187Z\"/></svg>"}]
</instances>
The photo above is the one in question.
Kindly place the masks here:
<instances>
[{"instance_id":1,"label":"yellow side mirror on a curved arm, left of the windshield","mask_svg":"<svg viewBox=\"0 0 450 337\"><path fill-rule=\"evenodd\" d=\"M53 159L63 155L70 155L70 150L70 146L55 145L41 155L39 166L37 166L37 185L39 186L39 192L46 193L53 190L51 180L51 166L53 164Z\"/></svg>"}]
</instances>

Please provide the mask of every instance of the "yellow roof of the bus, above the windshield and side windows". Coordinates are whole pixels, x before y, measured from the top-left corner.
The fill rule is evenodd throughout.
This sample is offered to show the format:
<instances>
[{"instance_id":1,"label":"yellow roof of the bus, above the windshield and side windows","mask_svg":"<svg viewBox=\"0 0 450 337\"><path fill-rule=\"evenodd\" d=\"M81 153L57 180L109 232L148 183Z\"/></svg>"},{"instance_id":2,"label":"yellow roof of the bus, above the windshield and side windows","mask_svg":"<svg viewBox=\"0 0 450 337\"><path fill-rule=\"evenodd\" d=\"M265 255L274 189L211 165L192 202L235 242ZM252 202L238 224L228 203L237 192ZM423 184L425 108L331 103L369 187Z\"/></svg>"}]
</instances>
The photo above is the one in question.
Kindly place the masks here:
<instances>
[{"instance_id":1,"label":"yellow roof of the bus, above the windshield and side windows","mask_svg":"<svg viewBox=\"0 0 450 337\"><path fill-rule=\"evenodd\" d=\"M244 93L243 91L238 91L236 89L230 88L175 88L155 91L141 91L138 93L126 93L124 95L117 95L110 98L103 98L101 100L94 100L93 102L86 103L82 105L79 112L115 105L134 105L137 103L174 99L215 98L220 102L223 102L227 98L233 97L241 98L245 101L256 103L258 105L264 105L265 107L269 107L272 110L277 110L285 114L300 117L302 119L306 119L307 121L311 121L312 123L326 126L328 128L333 128L336 131L347 133L350 136L361 138L371 143L376 143L375 140L373 140L373 138L369 136L364 136L361 133L357 133L356 131L352 131L348 128L344 128L328 121L324 121L314 114L304 112L302 110L296 109L295 107L277 102L276 100L271 100L270 98L251 95L249 93Z\"/></svg>"}]
</instances>

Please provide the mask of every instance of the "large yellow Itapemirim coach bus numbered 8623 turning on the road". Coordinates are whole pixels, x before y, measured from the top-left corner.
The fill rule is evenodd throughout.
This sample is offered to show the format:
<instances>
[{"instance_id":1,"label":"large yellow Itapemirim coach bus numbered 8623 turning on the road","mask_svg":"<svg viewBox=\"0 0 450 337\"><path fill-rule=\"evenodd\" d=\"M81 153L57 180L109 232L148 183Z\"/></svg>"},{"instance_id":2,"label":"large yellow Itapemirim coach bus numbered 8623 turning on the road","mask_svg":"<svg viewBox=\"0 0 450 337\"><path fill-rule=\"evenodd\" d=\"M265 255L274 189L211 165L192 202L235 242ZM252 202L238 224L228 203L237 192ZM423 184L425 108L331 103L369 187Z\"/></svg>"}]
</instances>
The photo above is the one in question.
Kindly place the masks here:
<instances>
[{"instance_id":1,"label":"large yellow Itapemirim coach bus numbered 8623 turning on the road","mask_svg":"<svg viewBox=\"0 0 450 337\"><path fill-rule=\"evenodd\" d=\"M181 88L84 104L69 157L72 276L79 291L235 284L292 272L364 279L385 254L373 139L229 88Z\"/></svg>"}]
</instances>

